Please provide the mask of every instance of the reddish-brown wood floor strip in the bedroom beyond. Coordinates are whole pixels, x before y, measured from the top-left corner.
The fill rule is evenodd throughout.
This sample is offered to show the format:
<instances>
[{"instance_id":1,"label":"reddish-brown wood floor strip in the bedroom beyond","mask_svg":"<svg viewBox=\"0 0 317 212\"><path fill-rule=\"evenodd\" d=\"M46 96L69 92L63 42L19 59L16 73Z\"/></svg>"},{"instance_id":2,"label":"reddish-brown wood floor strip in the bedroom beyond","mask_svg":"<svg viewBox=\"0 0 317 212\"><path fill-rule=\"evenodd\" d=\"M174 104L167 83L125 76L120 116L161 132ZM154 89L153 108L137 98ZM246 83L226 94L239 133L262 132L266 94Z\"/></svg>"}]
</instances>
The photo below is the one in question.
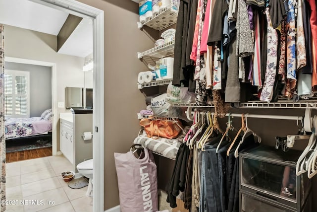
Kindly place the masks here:
<instances>
[{"instance_id":1,"label":"reddish-brown wood floor strip in the bedroom beyond","mask_svg":"<svg viewBox=\"0 0 317 212\"><path fill-rule=\"evenodd\" d=\"M6 153L6 162L34 159L52 155L52 147Z\"/></svg>"}]
</instances>

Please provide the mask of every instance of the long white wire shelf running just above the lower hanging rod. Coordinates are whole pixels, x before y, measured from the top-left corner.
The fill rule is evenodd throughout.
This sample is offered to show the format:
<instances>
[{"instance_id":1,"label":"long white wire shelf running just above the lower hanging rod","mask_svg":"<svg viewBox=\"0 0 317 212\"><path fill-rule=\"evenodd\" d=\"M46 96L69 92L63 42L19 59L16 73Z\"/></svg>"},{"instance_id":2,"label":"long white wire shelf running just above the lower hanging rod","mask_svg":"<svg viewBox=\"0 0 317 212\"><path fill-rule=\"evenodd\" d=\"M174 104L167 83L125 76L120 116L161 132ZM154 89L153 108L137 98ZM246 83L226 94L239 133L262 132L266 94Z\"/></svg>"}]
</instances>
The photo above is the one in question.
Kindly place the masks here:
<instances>
[{"instance_id":1,"label":"long white wire shelf running just above the lower hanging rod","mask_svg":"<svg viewBox=\"0 0 317 212\"><path fill-rule=\"evenodd\" d=\"M212 108L214 105L198 105L195 103L192 104L186 104L186 103L173 103L173 107L197 107L197 108ZM299 101L299 102L291 102L291 101L280 101L280 102L247 102L247 103L241 103L240 108L311 108L311 109L317 109L317 101Z\"/></svg>"}]
</instances>

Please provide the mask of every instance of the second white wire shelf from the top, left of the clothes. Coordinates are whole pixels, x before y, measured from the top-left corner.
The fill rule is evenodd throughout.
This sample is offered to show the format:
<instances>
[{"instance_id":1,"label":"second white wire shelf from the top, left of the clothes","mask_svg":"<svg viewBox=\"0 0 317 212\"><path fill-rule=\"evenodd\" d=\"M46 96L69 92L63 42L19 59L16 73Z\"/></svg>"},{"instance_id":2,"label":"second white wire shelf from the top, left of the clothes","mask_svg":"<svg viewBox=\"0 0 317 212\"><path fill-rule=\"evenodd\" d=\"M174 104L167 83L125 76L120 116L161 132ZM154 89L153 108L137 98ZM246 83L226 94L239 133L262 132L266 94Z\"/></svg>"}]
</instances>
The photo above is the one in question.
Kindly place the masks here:
<instances>
[{"instance_id":1,"label":"second white wire shelf from the top, left of the clothes","mask_svg":"<svg viewBox=\"0 0 317 212\"><path fill-rule=\"evenodd\" d=\"M171 56L174 54L175 41L169 41L163 45L154 47L144 52L138 52L138 59L143 59L146 64L156 65L156 61L160 58Z\"/></svg>"}]
</instances>

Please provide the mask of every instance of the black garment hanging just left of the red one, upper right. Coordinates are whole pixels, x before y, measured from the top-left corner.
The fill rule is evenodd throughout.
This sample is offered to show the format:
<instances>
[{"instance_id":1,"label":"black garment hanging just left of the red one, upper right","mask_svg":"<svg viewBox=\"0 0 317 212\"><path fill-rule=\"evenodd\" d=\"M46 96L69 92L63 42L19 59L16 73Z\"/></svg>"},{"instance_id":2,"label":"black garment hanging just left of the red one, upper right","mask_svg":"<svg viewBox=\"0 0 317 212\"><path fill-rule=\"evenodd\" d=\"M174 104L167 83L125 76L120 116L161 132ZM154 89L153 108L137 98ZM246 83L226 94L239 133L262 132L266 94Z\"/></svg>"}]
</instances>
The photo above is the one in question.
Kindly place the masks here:
<instances>
[{"instance_id":1,"label":"black garment hanging just left of the red one, upper right","mask_svg":"<svg viewBox=\"0 0 317 212\"><path fill-rule=\"evenodd\" d=\"M306 0L303 1L303 25L306 42L306 66L300 69L303 73L313 73L312 64L312 29L311 29L311 6Z\"/></svg>"}]
</instances>

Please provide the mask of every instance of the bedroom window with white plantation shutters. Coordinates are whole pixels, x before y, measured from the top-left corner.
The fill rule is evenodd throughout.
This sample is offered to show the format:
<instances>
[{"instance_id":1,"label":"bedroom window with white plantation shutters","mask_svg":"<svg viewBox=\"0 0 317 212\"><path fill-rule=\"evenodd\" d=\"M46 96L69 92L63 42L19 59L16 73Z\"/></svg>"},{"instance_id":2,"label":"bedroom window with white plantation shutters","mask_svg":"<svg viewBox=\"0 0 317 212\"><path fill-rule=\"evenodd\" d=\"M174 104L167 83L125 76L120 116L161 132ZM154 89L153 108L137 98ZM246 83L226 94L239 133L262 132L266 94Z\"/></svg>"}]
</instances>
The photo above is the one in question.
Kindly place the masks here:
<instances>
[{"instance_id":1,"label":"bedroom window with white plantation shutters","mask_svg":"<svg viewBox=\"0 0 317 212\"><path fill-rule=\"evenodd\" d=\"M4 115L26 118L30 114L30 72L4 71Z\"/></svg>"}]
</instances>

